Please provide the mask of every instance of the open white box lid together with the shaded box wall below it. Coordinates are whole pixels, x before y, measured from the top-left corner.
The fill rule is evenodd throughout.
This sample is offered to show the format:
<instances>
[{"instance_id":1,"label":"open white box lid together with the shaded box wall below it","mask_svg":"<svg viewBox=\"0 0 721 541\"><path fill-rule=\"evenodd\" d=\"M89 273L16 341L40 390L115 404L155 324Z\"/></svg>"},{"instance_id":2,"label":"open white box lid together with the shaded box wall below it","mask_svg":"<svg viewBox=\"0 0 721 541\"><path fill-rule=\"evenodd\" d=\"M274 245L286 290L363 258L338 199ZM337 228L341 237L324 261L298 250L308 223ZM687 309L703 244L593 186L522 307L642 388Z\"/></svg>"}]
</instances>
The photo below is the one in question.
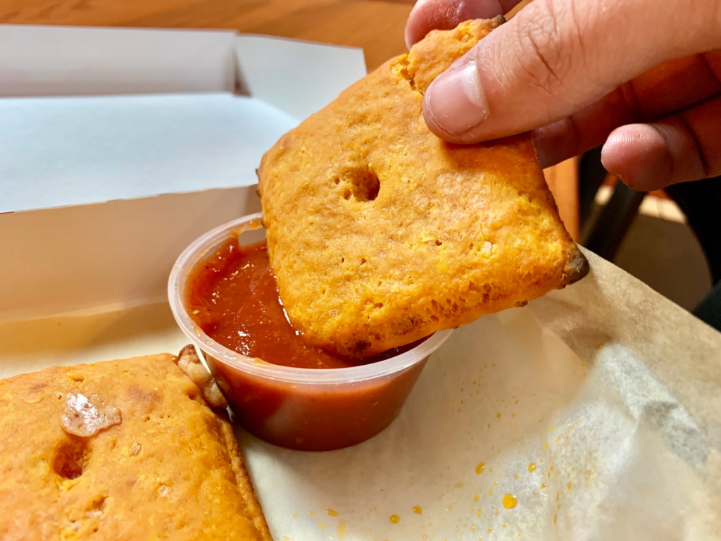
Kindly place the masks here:
<instances>
[{"instance_id":1,"label":"open white box lid together with the shaded box wall below it","mask_svg":"<svg viewBox=\"0 0 721 541\"><path fill-rule=\"evenodd\" d=\"M164 298L185 245L257 211L262 154L366 73L227 31L0 25L0 48L0 320Z\"/></svg>"}]
</instances>

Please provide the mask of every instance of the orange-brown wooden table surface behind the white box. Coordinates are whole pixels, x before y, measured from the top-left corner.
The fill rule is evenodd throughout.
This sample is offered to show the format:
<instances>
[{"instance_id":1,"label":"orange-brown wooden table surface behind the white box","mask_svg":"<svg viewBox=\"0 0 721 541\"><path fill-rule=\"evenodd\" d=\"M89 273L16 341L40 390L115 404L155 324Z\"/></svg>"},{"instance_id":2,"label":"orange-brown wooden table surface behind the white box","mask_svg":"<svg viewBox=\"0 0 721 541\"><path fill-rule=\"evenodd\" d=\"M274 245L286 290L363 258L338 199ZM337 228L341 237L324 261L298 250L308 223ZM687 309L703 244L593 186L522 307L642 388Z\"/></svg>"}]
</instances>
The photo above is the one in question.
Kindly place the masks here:
<instances>
[{"instance_id":1,"label":"orange-brown wooden table surface behind the white box","mask_svg":"<svg viewBox=\"0 0 721 541\"><path fill-rule=\"evenodd\" d=\"M226 28L363 48L369 70L405 52L412 0L0 0L0 22ZM575 162L547 170L569 232L578 235Z\"/></svg>"}]
</instances>

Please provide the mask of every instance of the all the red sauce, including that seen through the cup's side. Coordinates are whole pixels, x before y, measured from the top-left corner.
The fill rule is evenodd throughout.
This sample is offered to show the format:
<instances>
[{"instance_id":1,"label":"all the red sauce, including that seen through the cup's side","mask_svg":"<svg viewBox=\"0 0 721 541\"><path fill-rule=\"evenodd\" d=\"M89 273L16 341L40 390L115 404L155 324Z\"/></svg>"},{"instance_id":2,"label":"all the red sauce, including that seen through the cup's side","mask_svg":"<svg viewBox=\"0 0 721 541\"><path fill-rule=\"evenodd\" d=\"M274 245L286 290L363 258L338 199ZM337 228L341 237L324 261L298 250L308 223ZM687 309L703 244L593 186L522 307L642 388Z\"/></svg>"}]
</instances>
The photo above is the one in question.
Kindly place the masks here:
<instances>
[{"instance_id":1,"label":"all the red sauce, including that seen through the cup's side","mask_svg":"<svg viewBox=\"0 0 721 541\"><path fill-rule=\"evenodd\" d=\"M361 366L423 341L367 359L349 359L306 343L288 322L265 242L240 246L237 235L190 272L185 307L203 332L226 348L293 368ZM349 447L379 434L397 417L428 360L378 377L322 384L262 376L208 353L205 359L247 431L304 451Z\"/></svg>"}]
</instances>

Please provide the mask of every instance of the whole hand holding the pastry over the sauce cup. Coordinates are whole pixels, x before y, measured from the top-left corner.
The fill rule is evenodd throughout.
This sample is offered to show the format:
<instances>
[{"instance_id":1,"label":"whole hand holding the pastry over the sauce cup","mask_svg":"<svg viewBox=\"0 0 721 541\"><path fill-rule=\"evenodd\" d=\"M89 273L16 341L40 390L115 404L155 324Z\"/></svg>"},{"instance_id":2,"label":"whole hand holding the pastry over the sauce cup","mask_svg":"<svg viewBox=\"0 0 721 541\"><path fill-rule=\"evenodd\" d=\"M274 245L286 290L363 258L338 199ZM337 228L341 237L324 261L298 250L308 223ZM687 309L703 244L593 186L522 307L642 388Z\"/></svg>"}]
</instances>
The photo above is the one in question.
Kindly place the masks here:
<instances>
[{"instance_id":1,"label":"whole hand holding the pastry over the sauce cup","mask_svg":"<svg viewBox=\"0 0 721 541\"><path fill-rule=\"evenodd\" d=\"M406 41L518 1L419 0ZM533 130L543 167L603 144L637 190L713 177L720 48L721 0L535 0L438 76L423 115L460 144Z\"/></svg>"}]
</instances>

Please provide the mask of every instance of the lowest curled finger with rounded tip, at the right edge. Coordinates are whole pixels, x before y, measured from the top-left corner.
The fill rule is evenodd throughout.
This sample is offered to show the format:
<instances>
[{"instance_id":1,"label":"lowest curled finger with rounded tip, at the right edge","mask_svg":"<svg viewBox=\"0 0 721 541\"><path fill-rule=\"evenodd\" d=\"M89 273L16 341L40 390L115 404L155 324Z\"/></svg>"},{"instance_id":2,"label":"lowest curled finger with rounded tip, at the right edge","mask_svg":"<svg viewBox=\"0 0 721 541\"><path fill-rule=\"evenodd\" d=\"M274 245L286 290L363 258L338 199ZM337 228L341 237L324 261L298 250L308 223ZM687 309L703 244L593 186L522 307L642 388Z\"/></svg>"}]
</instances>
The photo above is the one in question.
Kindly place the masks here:
<instances>
[{"instance_id":1,"label":"lowest curled finger with rounded tip, at the right edge","mask_svg":"<svg viewBox=\"0 0 721 541\"><path fill-rule=\"evenodd\" d=\"M601 151L603 167L634 190L721 175L721 97L650 124L614 130Z\"/></svg>"}]
</instances>

